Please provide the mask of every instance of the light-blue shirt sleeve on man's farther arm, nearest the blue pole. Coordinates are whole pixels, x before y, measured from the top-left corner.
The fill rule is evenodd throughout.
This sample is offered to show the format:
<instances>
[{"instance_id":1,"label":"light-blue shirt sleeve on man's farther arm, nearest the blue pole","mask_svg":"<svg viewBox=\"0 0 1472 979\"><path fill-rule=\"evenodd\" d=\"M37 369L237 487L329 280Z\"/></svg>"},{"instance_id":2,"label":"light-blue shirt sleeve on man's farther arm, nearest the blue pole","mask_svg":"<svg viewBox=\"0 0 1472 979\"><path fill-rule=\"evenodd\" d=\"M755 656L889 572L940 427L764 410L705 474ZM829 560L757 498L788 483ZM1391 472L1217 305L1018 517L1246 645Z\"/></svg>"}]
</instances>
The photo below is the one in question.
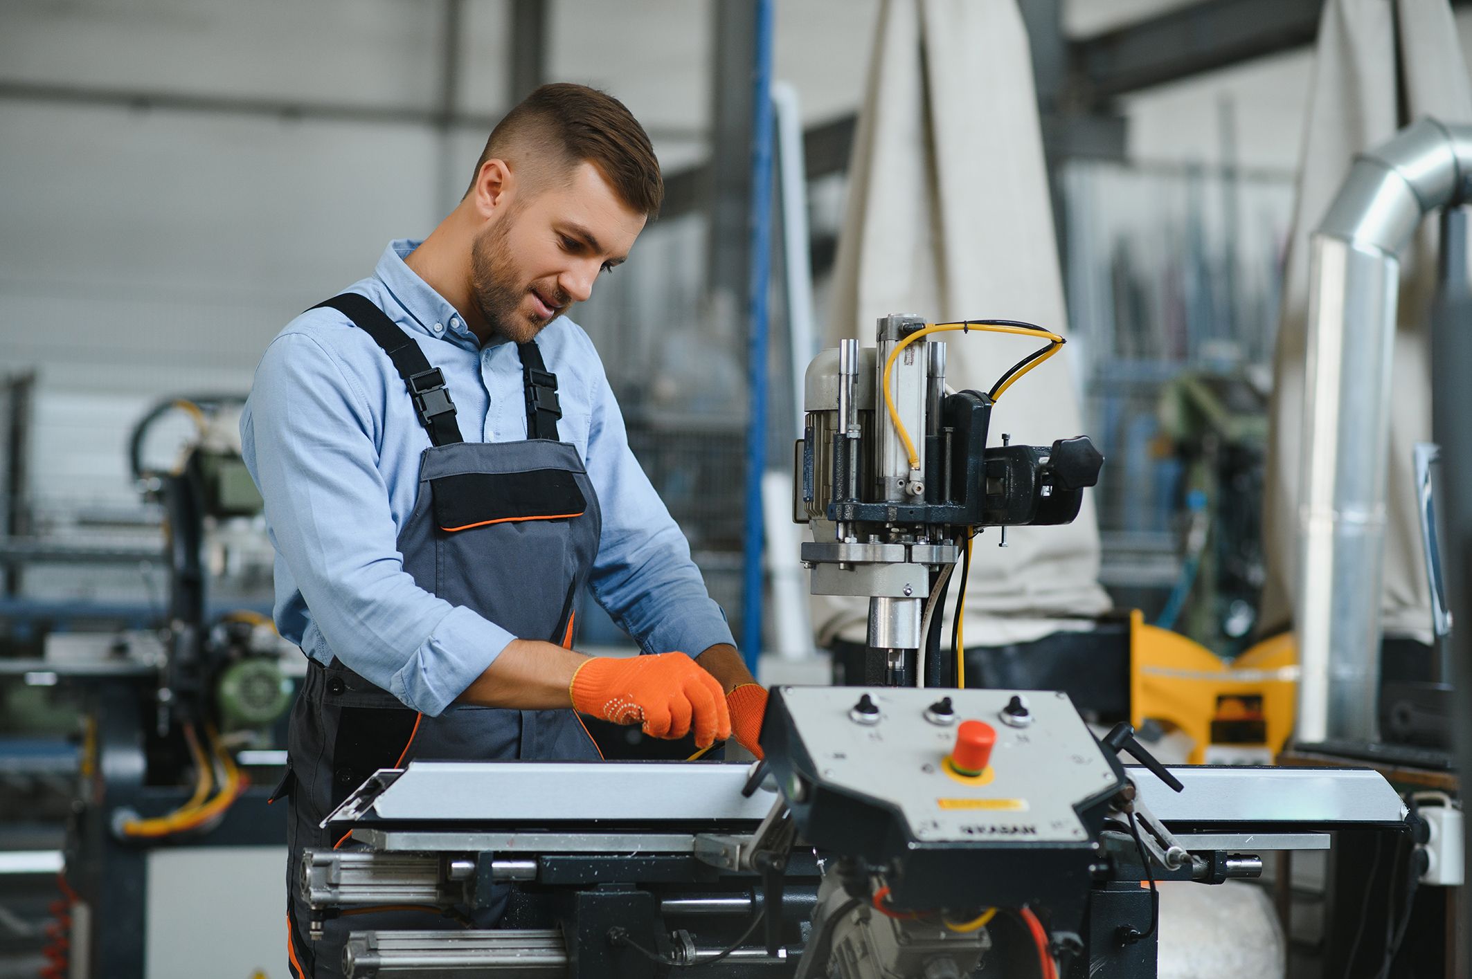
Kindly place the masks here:
<instances>
[{"instance_id":1,"label":"light-blue shirt sleeve on man's farther arm, nearest the blue pole","mask_svg":"<svg viewBox=\"0 0 1472 979\"><path fill-rule=\"evenodd\" d=\"M699 656L730 642L690 544L629 448L623 413L599 370L587 437L589 478L604 513L593 566L593 597L645 653Z\"/></svg>"}]
</instances>

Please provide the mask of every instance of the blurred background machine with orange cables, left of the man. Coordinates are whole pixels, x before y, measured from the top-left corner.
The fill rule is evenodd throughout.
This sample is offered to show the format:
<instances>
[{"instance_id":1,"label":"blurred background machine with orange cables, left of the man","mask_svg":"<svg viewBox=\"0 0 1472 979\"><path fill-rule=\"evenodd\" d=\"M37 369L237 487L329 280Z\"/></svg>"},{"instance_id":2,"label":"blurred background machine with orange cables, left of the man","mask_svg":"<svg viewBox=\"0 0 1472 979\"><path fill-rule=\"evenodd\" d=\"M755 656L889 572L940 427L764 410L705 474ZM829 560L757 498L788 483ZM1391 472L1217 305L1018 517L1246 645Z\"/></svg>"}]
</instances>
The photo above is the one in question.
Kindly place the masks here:
<instances>
[{"instance_id":1,"label":"blurred background machine with orange cables, left of the man","mask_svg":"<svg viewBox=\"0 0 1472 979\"><path fill-rule=\"evenodd\" d=\"M261 510L240 459L240 403L168 398L130 440L137 488L163 516L159 628L56 632L41 659L0 663L74 691L84 711L47 975L197 975L199 950L175 933L185 919L212 961L249 975L280 933L286 816L265 798L305 660L261 609L209 601L227 567L259 560L262 545L269 556L236 526ZM215 882L224 866L230 879Z\"/></svg>"}]
</instances>

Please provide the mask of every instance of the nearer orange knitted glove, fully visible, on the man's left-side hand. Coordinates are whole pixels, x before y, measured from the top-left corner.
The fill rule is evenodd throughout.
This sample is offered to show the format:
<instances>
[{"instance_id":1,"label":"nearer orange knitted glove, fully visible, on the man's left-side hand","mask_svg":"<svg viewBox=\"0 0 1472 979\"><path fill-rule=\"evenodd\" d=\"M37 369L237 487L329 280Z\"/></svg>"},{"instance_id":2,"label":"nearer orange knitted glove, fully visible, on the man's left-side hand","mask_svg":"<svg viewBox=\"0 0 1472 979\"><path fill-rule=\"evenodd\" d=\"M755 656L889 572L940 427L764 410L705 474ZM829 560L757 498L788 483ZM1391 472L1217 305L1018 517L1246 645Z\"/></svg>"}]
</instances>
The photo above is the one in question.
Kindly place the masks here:
<instances>
[{"instance_id":1,"label":"nearer orange knitted glove, fully visible, on the man's left-side hand","mask_svg":"<svg viewBox=\"0 0 1472 979\"><path fill-rule=\"evenodd\" d=\"M599 656L573 673L573 707L615 725L642 723L654 738L683 738L710 747L732 736L732 717L720 682L684 653Z\"/></svg>"}]
</instances>

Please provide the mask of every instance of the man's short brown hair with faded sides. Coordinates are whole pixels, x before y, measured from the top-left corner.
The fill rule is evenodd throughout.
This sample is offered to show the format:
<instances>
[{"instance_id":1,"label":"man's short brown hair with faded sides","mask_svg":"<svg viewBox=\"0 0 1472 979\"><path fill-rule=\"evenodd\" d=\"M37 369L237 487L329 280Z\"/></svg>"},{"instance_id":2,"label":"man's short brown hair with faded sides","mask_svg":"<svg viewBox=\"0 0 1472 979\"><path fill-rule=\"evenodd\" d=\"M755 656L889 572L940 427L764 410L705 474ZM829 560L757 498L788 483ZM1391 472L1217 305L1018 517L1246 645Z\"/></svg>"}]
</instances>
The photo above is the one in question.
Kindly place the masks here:
<instances>
[{"instance_id":1,"label":"man's short brown hair with faded sides","mask_svg":"<svg viewBox=\"0 0 1472 979\"><path fill-rule=\"evenodd\" d=\"M508 112L475 160L470 190L492 159L553 172L587 162L633 210L654 218L664 201L649 135L624 103L587 85L542 85Z\"/></svg>"}]
</instances>

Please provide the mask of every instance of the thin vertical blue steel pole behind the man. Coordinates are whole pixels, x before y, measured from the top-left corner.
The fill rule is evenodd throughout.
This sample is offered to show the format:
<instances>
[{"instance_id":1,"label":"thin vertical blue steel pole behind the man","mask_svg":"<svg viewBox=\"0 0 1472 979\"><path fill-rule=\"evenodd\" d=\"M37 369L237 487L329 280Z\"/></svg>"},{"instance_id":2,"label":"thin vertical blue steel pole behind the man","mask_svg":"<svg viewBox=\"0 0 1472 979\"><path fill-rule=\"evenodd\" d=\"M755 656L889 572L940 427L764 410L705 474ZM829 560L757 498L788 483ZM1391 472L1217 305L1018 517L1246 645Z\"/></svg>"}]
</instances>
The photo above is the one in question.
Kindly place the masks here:
<instances>
[{"instance_id":1,"label":"thin vertical blue steel pole behind the man","mask_svg":"<svg viewBox=\"0 0 1472 979\"><path fill-rule=\"evenodd\" d=\"M740 651L757 673L761 651L762 507L761 476L767 470L767 284L771 275L771 0L757 3L757 50L752 71L751 129L751 334L746 343L746 541L742 589Z\"/></svg>"}]
</instances>

